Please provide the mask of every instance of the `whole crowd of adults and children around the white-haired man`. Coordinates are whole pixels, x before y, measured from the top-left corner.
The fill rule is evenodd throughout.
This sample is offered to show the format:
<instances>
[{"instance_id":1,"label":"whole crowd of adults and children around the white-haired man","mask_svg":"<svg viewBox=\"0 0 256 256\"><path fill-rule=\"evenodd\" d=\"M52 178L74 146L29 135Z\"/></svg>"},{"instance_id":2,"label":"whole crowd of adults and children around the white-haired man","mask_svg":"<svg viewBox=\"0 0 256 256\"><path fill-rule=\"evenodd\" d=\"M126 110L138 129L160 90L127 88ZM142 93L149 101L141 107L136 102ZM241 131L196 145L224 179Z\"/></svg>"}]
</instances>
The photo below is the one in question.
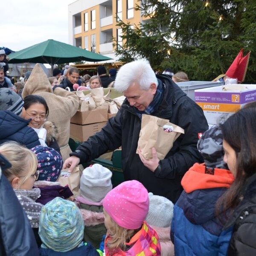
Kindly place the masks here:
<instances>
[{"instance_id":1,"label":"whole crowd of adults and children around the white-haired man","mask_svg":"<svg viewBox=\"0 0 256 256\"><path fill-rule=\"evenodd\" d=\"M255 102L208 129L202 109L175 83L188 81L186 74L156 75L145 60L109 75L99 66L92 77L65 66L48 78L36 64L16 88L3 67L1 255L256 253ZM114 87L125 101L72 152L70 119L79 108L74 91L98 87ZM184 129L162 160L155 148L149 160L136 153L143 114ZM81 168L120 146L125 181L118 186L100 164ZM77 195L60 178L79 165Z\"/></svg>"}]
</instances>

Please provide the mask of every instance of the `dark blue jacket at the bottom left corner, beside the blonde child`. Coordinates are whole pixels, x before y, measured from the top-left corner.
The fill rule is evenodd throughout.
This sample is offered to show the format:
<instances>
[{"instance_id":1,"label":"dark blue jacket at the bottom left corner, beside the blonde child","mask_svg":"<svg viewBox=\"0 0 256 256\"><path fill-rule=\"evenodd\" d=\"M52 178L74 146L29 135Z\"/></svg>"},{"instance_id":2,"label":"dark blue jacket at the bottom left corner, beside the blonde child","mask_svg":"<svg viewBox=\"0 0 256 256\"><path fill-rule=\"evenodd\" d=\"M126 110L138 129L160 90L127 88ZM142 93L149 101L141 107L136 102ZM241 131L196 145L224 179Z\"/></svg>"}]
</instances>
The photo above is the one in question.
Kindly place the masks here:
<instances>
[{"instance_id":1,"label":"dark blue jacket at the bottom left corner, beside the blonde child","mask_svg":"<svg viewBox=\"0 0 256 256\"><path fill-rule=\"evenodd\" d=\"M20 202L18 201L9 181L5 176L1 176L1 169L0 255L39 255L29 220L21 208Z\"/></svg>"}]
</instances>

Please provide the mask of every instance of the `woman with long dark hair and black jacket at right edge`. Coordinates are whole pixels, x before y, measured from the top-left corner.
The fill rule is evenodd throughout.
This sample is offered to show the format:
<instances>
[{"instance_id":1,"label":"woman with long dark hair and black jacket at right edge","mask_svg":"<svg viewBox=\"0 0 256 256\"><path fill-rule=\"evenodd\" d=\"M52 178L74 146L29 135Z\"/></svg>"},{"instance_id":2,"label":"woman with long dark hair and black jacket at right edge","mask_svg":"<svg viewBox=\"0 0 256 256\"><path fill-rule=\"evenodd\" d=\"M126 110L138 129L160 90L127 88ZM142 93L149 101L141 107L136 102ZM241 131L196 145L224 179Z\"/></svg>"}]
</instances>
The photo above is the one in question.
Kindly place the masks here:
<instances>
[{"instance_id":1,"label":"woman with long dark hair and black jacket at right edge","mask_svg":"<svg viewBox=\"0 0 256 256\"><path fill-rule=\"evenodd\" d=\"M256 255L256 103L221 125L224 161L235 176L219 199L219 212L231 210L224 229L233 227L228 255Z\"/></svg>"}]
</instances>

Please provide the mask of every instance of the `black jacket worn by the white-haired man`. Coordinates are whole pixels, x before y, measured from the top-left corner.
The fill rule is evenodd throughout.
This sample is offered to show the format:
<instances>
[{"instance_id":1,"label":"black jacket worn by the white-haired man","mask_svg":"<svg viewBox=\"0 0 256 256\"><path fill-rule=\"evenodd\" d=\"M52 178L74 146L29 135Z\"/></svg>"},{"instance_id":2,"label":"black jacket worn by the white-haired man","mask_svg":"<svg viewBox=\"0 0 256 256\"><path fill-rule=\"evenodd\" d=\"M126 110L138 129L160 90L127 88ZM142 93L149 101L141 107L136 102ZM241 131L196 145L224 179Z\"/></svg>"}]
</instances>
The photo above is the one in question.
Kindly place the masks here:
<instances>
[{"instance_id":1,"label":"black jacket worn by the white-haired man","mask_svg":"<svg viewBox=\"0 0 256 256\"><path fill-rule=\"evenodd\" d=\"M138 180L148 192L164 196L175 203L182 191L180 181L185 172L194 163L203 161L197 149L198 133L206 131L208 125L202 109L177 84L166 76L158 78L165 86L164 96L159 109L152 115L169 119L185 130L166 158L160 161L160 169L151 172L136 154L141 119L127 99L102 131L90 137L70 155L79 157L81 163L84 163L122 145L125 180Z\"/></svg>"}]
</instances>

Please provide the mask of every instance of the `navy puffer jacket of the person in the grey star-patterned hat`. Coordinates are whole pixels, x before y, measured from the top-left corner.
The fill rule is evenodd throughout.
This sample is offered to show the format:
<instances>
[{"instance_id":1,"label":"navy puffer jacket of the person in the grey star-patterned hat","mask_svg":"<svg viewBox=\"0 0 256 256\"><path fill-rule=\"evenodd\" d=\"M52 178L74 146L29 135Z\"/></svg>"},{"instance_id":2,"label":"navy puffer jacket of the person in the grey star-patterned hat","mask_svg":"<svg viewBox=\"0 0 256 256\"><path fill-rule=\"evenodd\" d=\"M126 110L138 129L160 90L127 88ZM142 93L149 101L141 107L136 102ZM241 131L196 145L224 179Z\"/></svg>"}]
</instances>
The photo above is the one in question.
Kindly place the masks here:
<instances>
[{"instance_id":1,"label":"navy puffer jacket of the person in the grey star-patterned hat","mask_svg":"<svg viewBox=\"0 0 256 256\"><path fill-rule=\"evenodd\" d=\"M16 141L27 148L40 145L38 135L25 120L11 111L0 111L0 145L7 141Z\"/></svg>"}]
</instances>

